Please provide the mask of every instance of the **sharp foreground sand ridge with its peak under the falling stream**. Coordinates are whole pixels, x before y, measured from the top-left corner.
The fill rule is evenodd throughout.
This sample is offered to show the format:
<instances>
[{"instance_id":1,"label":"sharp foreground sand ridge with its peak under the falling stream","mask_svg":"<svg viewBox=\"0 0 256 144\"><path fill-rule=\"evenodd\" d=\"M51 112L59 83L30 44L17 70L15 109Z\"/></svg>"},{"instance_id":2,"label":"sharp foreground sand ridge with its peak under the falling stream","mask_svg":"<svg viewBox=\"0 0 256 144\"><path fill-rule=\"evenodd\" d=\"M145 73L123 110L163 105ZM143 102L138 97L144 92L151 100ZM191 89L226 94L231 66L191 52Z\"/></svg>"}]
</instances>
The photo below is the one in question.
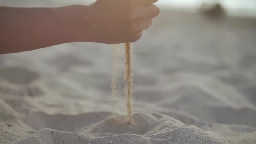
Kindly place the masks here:
<instances>
[{"instance_id":1,"label":"sharp foreground sand ridge with its peak under the falling stream","mask_svg":"<svg viewBox=\"0 0 256 144\"><path fill-rule=\"evenodd\" d=\"M86 121L86 120L85 120ZM85 133L41 129L19 144L225 144L212 133L159 113L112 116Z\"/></svg>"}]
</instances>

